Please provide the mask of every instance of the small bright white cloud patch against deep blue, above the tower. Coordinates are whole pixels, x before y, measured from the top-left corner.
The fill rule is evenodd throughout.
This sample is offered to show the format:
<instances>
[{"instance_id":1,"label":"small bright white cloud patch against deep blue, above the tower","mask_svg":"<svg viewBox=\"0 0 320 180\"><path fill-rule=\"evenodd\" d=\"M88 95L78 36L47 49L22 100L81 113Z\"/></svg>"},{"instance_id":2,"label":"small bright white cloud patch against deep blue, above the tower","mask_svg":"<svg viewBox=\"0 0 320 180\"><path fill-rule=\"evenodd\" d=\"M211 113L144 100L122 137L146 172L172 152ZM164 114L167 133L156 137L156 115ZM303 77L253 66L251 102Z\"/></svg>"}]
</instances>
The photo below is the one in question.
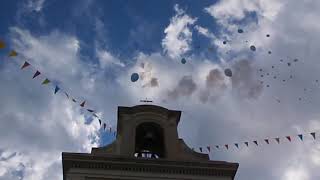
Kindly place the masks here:
<instances>
[{"instance_id":1,"label":"small bright white cloud patch against deep blue, above the tower","mask_svg":"<svg viewBox=\"0 0 320 180\"><path fill-rule=\"evenodd\" d=\"M164 30L166 36L162 39L162 47L171 58L179 58L182 54L190 50L192 42L192 31L190 26L196 22L185 14L183 9L175 5L176 15L171 18L170 24Z\"/></svg>"}]
</instances>

